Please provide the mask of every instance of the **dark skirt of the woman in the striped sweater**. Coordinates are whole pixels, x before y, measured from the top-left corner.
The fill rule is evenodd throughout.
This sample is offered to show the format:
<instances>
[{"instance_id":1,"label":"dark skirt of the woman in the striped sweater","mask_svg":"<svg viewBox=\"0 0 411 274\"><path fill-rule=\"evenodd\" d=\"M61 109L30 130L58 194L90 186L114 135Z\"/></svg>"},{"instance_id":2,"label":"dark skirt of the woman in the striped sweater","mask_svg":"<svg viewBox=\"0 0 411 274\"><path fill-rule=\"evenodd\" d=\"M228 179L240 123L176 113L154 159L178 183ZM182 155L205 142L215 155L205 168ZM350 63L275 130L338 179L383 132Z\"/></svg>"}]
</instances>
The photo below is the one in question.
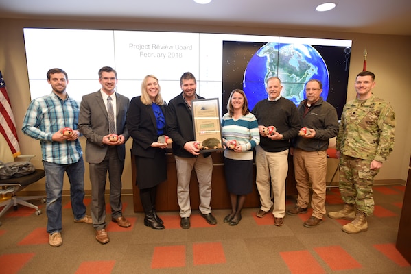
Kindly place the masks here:
<instances>
[{"instance_id":1,"label":"dark skirt of the woman in the striped sweater","mask_svg":"<svg viewBox=\"0 0 411 274\"><path fill-rule=\"evenodd\" d=\"M253 160L232 160L224 157L228 192L246 195L253 191Z\"/></svg>"}]
</instances>

